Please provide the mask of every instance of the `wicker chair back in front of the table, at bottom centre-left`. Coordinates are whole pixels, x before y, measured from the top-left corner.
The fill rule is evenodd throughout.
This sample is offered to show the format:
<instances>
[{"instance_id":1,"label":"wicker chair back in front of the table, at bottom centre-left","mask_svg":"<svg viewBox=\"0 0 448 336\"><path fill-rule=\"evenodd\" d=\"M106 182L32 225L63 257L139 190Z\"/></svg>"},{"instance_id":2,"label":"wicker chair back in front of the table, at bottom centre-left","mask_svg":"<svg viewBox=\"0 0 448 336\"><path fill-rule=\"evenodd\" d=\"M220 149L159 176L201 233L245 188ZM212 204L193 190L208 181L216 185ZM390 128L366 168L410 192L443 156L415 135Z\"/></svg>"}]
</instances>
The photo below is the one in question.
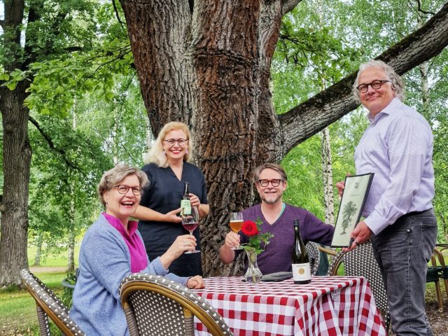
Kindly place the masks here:
<instances>
[{"instance_id":1,"label":"wicker chair back in front of the table, at bottom centre-left","mask_svg":"<svg viewBox=\"0 0 448 336\"><path fill-rule=\"evenodd\" d=\"M214 336L233 335L207 300L164 276L130 274L121 281L120 297L130 336L193 336L194 316Z\"/></svg>"}]
</instances>

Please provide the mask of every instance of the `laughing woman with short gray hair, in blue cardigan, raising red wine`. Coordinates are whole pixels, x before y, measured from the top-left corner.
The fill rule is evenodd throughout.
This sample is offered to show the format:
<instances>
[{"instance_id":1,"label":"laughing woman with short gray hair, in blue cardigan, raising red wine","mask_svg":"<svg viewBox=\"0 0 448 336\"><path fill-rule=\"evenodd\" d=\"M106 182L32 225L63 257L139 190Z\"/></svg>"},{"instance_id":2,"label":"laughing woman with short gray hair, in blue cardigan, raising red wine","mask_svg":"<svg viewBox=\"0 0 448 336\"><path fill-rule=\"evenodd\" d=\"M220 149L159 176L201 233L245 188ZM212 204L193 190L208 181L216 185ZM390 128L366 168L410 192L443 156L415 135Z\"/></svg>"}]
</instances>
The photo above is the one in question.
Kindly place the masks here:
<instances>
[{"instance_id":1,"label":"laughing woman with short gray hair, in blue cardigan, raising red wine","mask_svg":"<svg viewBox=\"0 0 448 336\"><path fill-rule=\"evenodd\" d=\"M177 237L166 253L149 262L137 222L130 221L147 183L144 172L123 164L105 172L99 182L105 211L84 235L70 310L86 335L129 335L118 288L131 273L158 274L188 288L204 287L202 276L186 278L168 271L179 255L195 249L190 235Z\"/></svg>"}]
</instances>

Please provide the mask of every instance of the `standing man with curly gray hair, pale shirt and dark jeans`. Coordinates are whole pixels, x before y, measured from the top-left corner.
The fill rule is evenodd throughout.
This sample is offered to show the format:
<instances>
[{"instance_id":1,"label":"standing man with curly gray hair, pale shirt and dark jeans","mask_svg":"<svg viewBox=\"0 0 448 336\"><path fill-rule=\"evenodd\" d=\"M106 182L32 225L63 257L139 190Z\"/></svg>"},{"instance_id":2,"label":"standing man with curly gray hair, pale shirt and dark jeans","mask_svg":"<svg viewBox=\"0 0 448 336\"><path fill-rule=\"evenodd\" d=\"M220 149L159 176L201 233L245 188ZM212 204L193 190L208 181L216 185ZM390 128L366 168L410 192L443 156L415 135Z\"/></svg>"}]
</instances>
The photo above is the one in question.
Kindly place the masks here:
<instances>
[{"instance_id":1,"label":"standing man with curly gray hair, pale shirt and dark jeans","mask_svg":"<svg viewBox=\"0 0 448 336\"><path fill-rule=\"evenodd\" d=\"M355 99L370 125L355 151L356 174L374 173L364 220L351 232L355 248L372 238L397 335L433 335L425 314L427 263L437 237L433 134L403 104L400 76L384 62L360 65ZM344 183L336 184L342 194Z\"/></svg>"}]
</instances>

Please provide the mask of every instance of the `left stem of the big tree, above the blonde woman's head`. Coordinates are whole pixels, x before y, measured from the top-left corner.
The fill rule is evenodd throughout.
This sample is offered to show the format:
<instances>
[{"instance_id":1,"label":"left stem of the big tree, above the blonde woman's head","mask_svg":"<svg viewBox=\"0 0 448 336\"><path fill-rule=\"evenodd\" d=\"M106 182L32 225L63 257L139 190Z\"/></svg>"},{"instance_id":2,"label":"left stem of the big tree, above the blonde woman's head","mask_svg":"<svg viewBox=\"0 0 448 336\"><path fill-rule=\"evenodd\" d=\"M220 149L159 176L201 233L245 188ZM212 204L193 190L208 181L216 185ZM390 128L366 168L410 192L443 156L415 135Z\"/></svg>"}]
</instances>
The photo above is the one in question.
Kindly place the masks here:
<instances>
[{"instance_id":1,"label":"left stem of the big tree, above the blonde woman's head","mask_svg":"<svg viewBox=\"0 0 448 336\"><path fill-rule=\"evenodd\" d=\"M193 69L187 50L192 34L188 1L120 3L153 134L172 120L189 123L193 114Z\"/></svg>"}]
</instances>

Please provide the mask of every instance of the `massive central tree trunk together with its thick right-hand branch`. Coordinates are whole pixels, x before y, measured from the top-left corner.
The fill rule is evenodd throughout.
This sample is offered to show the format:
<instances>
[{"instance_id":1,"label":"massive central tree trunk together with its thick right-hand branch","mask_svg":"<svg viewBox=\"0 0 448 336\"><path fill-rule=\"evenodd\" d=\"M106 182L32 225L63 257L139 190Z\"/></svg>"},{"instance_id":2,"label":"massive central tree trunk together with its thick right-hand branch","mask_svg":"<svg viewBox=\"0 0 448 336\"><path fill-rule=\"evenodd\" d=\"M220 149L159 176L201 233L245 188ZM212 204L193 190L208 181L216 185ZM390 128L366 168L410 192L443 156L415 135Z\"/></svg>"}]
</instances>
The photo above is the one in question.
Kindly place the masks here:
<instances>
[{"instance_id":1,"label":"massive central tree trunk together with its thick right-hand branch","mask_svg":"<svg viewBox=\"0 0 448 336\"><path fill-rule=\"evenodd\" d=\"M193 131L194 161L207 178L211 211L201 225L204 274L235 274L217 252L228 213L253 202L253 168L356 108L354 74L276 116L269 69L282 16L300 0L121 0L153 134L171 120ZM447 6L381 59L398 73L448 44ZM424 52L422 51L424 50Z\"/></svg>"}]
</instances>

